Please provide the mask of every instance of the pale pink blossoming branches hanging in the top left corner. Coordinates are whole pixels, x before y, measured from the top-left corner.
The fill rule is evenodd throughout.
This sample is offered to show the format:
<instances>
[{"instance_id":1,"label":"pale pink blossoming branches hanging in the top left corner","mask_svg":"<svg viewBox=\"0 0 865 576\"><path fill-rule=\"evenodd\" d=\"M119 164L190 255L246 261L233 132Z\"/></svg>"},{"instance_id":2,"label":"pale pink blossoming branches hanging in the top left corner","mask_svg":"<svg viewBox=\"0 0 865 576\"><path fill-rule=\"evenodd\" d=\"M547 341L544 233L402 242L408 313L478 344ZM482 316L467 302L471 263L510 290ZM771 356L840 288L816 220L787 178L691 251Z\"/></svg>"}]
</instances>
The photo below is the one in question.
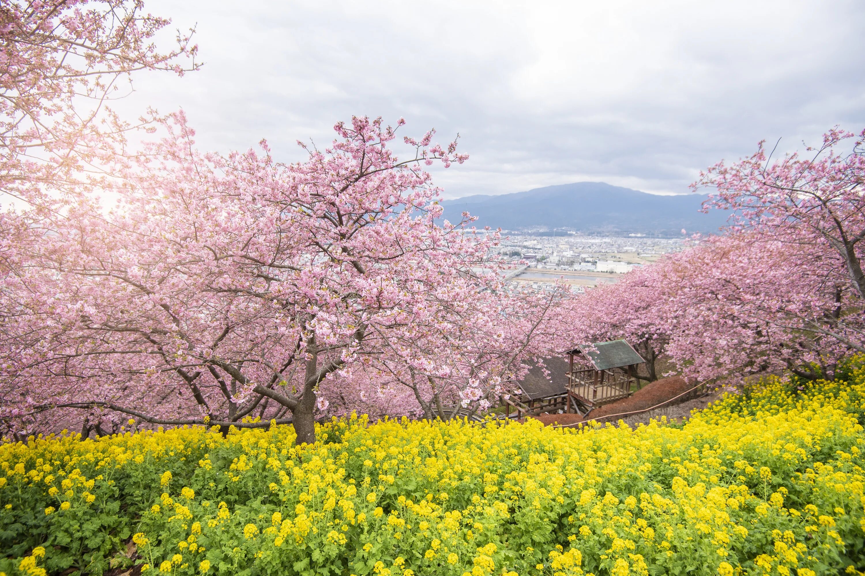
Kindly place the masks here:
<instances>
[{"instance_id":1,"label":"pale pink blossoming branches hanging in the top left corner","mask_svg":"<svg viewBox=\"0 0 865 576\"><path fill-rule=\"evenodd\" d=\"M131 73L199 66L192 31L165 51L154 43L169 23L140 0L0 0L0 193L53 208L105 175L128 130L154 120L129 123L108 106Z\"/></svg>"}]
</instances>

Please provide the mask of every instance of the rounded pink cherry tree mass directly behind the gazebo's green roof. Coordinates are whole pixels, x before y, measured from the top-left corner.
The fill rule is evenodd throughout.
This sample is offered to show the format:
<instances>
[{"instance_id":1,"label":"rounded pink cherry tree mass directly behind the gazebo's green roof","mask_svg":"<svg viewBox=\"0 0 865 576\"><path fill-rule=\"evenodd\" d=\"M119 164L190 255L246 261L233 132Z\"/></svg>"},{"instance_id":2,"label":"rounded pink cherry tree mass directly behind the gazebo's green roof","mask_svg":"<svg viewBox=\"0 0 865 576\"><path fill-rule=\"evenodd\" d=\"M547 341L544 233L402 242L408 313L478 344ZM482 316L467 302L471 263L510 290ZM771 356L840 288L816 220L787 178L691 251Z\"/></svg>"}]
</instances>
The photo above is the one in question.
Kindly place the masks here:
<instances>
[{"instance_id":1,"label":"rounded pink cherry tree mass directly behind the gazebo's green roof","mask_svg":"<svg viewBox=\"0 0 865 576\"><path fill-rule=\"evenodd\" d=\"M845 276L841 259L817 244L739 231L701 238L589 290L565 315L580 344L627 339L650 375L663 352L700 380L783 369L825 377L851 350L843 340L856 338L844 314L857 309L857 298L837 289Z\"/></svg>"}]
</instances>

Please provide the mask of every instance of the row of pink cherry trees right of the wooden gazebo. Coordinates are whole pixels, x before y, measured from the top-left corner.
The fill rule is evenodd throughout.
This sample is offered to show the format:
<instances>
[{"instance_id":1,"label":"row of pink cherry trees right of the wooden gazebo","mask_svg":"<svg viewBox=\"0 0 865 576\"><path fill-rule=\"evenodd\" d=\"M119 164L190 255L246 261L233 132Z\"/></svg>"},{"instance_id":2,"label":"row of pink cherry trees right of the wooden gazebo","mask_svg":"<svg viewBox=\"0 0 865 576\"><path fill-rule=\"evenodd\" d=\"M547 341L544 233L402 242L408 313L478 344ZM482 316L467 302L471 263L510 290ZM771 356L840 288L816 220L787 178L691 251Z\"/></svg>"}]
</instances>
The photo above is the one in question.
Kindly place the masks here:
<instances>
[{"instance_id":1,"label":"row of pink cherry trees right of the wooden gazebo","mask_svg":"<svg viewBox=\"0 0 865 576\"><path fill-rule=\"evenodd\" d=\"M731 212L723 236L637 269L568 304L576 332L626 338L658 375L664 353L699 379L789 369L831 376L865 352L865 154L830 130L804 155L749 158L701 174L705 209Z\"/></svg>"}]
</instances>

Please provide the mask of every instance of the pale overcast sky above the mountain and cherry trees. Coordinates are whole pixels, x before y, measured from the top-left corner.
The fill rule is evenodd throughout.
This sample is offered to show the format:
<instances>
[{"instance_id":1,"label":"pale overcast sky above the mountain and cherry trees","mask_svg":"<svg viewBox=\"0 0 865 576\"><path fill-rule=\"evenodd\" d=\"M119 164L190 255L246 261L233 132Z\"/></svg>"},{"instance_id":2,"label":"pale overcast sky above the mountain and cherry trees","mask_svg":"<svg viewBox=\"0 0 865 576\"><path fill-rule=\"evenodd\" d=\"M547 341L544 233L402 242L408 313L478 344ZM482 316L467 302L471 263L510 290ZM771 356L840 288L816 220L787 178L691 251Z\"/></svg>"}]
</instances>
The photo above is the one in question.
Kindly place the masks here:
<instances>
[{"instance_id":1,"label":"pale overcast sky above the mountain and cherry trees","mask_svg":"<svg viewBox=\"0 0 865 576\"><path fill-rule=\"evenodd\" d=\"M205 149L329 142L405 117L471 155L445 197L595 180L685 193L701 168L865 128L865 3L151 0L197 24L200 72L138 76L121 108L183 107Z\"/></svg>"}]
</instances>

